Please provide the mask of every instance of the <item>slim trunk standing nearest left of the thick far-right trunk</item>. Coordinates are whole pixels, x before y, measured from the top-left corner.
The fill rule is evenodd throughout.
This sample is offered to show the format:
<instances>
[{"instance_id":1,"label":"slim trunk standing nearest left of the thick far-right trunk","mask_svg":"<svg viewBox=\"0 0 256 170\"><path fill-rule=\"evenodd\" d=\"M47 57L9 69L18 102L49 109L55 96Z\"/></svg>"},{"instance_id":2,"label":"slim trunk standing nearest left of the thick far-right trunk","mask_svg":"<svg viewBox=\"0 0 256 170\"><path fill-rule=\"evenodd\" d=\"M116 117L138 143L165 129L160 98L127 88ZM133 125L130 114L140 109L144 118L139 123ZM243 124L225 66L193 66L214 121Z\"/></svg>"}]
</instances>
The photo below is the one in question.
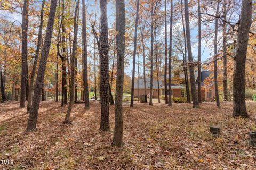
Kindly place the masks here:
<instances>
[{"instance_id":1,"label":"slim trunk standing nearest left of the thick far-right trunk","mask_svg":"<svg viewBox=\"0 0 256 170\"><path fill-rule=\"evenodd\" d=\"M223 19L227 21L226 1L223 1ZM227 71L227 23L223 22L223 100L228 100L228 71Z\"/></svg>"}]
</instances>

